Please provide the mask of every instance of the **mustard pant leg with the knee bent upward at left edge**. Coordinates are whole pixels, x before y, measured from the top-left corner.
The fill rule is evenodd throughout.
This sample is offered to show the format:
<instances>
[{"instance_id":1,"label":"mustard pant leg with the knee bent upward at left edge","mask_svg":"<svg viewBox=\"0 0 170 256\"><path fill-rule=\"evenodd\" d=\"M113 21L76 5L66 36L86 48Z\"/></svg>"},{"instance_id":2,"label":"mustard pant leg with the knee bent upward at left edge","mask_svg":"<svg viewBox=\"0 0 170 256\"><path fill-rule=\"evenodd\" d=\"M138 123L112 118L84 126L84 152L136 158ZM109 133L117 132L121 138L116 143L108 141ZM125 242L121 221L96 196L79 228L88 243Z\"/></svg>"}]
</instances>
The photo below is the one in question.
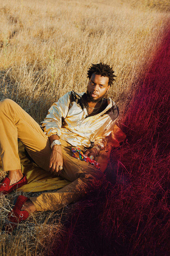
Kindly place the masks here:
<instances>
[{"instance_id":1,"label":"mustard pant leg with the knee bent upward at left edge","mask_svg":"<svg viewBox=\"0 0 170 256\"><path fill-rule=\"evenodd\" d=\"M3 170L21 169L18 139L40 167L51 154L50 142L40 125L13 100L0 101L0 156Z\"/></svg>"}]
</instances>

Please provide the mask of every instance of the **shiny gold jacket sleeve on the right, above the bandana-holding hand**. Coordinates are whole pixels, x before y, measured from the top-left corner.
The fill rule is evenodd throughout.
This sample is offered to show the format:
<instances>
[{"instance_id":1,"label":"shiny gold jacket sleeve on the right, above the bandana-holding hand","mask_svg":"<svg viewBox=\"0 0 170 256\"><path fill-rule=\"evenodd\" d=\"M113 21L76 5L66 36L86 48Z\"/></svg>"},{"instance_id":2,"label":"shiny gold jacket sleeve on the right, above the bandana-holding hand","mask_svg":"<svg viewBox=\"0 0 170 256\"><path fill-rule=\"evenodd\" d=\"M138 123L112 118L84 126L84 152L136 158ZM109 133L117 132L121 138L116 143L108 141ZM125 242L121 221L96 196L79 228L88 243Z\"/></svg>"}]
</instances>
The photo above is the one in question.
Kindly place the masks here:
<instances>
[{"instance_id":1,"label":"shiny gold jacket sleeve on the right, above the bandana-holding hand","mask_svg":"<svg viewBox=\"0 0 170 256\"><path fill-rule=\"evenodd\" d=\"M100 146L100 150L103 150L105 139L112 132L116 122L117 118L112 122L112 124L108 124L106 126L105 130L96 137L94 146L98 144Z\"/></svg>"}]
</instances>

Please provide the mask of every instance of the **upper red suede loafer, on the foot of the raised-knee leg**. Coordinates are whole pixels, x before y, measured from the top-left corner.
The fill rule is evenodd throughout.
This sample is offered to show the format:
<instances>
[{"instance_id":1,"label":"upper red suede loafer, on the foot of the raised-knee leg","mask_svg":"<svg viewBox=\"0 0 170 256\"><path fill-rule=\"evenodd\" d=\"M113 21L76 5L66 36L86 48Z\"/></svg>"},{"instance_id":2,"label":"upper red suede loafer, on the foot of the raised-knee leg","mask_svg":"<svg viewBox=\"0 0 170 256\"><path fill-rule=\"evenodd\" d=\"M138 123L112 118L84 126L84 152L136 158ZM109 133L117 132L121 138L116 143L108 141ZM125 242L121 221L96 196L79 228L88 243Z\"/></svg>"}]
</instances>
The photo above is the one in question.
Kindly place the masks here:
<instances>
[{"instance_id":1,"label":"upper red suede loafer, on the foot of the raised-knee leg","mask_svg":"<svg viewBox=\"0 0 170 256\"><path fill-rule=\"evenodd\" d=\"M20 188L23 185L27 184L27 178L26 175L23 174L23 177L21 180L19 180L18 182L10 185L10 179L8 177L5 177L5 179L2 181L1 185L0 185L0 193L6 195L11 193L12 190L16 189L16 188Z\"/></svg>"}]
</instances>

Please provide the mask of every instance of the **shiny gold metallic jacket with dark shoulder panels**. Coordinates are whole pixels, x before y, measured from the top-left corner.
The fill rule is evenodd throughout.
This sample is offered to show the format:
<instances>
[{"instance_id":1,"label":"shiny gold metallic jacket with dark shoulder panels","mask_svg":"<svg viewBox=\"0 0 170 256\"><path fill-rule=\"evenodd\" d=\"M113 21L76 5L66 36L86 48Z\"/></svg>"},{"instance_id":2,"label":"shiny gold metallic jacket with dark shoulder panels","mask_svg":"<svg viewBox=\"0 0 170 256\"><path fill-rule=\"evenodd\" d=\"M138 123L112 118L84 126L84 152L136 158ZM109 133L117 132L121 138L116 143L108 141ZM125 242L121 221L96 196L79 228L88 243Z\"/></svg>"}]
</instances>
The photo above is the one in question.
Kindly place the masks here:
<instances>
[{"instance_id":1,"label":"shiny gold metallic jacket with dark shoulder panels","mask_svg":"<svg viewBox=\"0 0 170 256\"><path fill-rule=\"evenodd\" d=\"M113 130L119 109L115 102L108 98L108 106L102 112L88 116L86 105L81 98L84 93L66 93L48 110L41 127L47 137L57 134L83 151L95 144L103 149L104 139Z\"/></svg>"}]
</instances>

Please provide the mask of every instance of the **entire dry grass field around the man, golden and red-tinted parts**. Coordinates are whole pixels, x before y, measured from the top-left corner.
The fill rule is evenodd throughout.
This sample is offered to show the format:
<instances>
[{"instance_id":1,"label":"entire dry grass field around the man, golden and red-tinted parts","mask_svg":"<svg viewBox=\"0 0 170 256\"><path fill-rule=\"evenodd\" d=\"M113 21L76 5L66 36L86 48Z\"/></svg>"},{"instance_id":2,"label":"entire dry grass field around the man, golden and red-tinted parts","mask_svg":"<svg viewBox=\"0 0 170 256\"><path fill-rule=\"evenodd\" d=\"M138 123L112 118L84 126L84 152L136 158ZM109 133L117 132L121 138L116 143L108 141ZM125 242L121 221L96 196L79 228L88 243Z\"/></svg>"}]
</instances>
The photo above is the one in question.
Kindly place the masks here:
<instances>
[{"instance_id":1,"label":"entire dry grass field around the man, golden and red-tinted parts","mask_svg":"<svg viewBox=\"0 0 170 256\"><path fill-rule=\"evenodd\" d=\"M169 10L166 0L0 0L0 100L40 123L64 93L86 91L91 63L108 63L127 134L98 194L0 231L0 255L169 255ZM0 196L1 227L14 196Z\"/></svg>"}]
</instances>

